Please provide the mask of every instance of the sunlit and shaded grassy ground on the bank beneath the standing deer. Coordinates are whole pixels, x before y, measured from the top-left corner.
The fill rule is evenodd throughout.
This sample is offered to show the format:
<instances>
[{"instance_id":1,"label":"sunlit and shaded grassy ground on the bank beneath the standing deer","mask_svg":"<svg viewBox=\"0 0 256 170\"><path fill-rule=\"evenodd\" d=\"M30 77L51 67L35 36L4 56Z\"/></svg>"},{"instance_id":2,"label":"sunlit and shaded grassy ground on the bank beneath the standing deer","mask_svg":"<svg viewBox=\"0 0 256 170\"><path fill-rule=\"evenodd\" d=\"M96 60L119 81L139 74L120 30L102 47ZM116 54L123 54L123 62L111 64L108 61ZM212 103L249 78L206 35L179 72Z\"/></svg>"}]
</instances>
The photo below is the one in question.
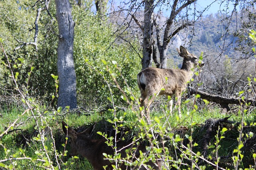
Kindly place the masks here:
<instances>
[{"instance_id":1,"label":"sunlit and shaded grassy ground on the bank beneath the standing deer","mask_svg":"<svg viewBox=\"0 0 256 170\"><path fill-rule=\"evenodd\" d=\"M221 119L230 116L228 119L230 121L241 121L242 114L240 114L237 110L233 113L222 113L221 109L218 107L207 107L202 107L194 113L191 113L192 108L189 105L184 105L182 106L181 119L177 117L176 111L174 111L173 115L170 115L168 111L166 112L166 106L164 102L160 102L159 105L155 105L151 111L151 127L156 127L156 132L158 132L159 127L164 127L165 133L169 135L168 136L165 134L164 136L166 137L164 139L166 141L166 147L168 147L170 155L172 155L172 157L174 157L177 161L179 156L176 155L179 153L177 153L175 145L177 143L182 143L184 146L189 146L190 139L188 136L191 134L192 143L198 144L193 147L193 152L202 152L204 137L206 136L206 131L209 127L207 126L206 120L208 120L209 123L213 122L215 119ZM106 121L108 119L114 120L114 115L118 117L119 120L117 122L119 122L119 124L122 122L123 126L120 131L123 134L126 132L126 134L122 136L126 139L130 139L131 137L136 136L138 131L141 131L140 127L142 126L141 122L138 121L138 113L132 111L131 109L128 109L126 112L98 112L95 109L94 111L91 111L89 115L88 113L81 112L58 113L57 111L47 111L42 113L40 116L36 115L36 117L32 117L31 113L25 113L24 115L20 116L24 110L25 109L23 107L13 106L11 108L4 107L0 111L0 134L6 131L6 128L10 127L12 123L16 121L16 123L14 123L12 127L7 130L8 134L3 135L2 139L0 140L0 144L2 146L0 147L0 167L2 166L9 169L15 168L20 170L45 169L45 167L51 168L50 164L52 164L52 167L61 169L92 169L90 163L82 158L82 156L78 156L77 158L70 158L68 156L62 155L64 151L63 144L65 143L65 136L64 133L62 133L62 128L60 126L60 122L62 120L66 121L70 127L74 127L74 129L78 131L86 129L86 127L93 124L94 122L98 122L94 131L93 138L100 138L100 135L96 134L97 131L102 131L108 134L108 136L114 135L112 125ZM36 122L39 123L39 128L36 127ZM245 114L244 122L247 123L247 126L244 127L244 136L242 137L242 141L244 142L244 146L252 146L251 149L246 148L247 150L243 150L244 160L240 162L240 168L248 168L249 164L254 165L252 153L255 152L255 143L246 144L245 142L250 141L251 139L255 139L255 135L252 135L250 138L246 137L246 134L250 134L250 132L256 132L255 126L250 126L251 122L256 122L256 112L251 111L250 113ZM228 131L225 132L225 138L223 138L218 143L220 148L218 148L216 151L218 146L214 145L214 143L216 143L218 140L214 138L214 135L212 135L210 144L212 144L213 147L208 150L208 156L210 155L214 158L216 155L232 155L234 154L233 150L238 147L238 126L234 124L232 125L223 123L219 126L220 131L223 127L226 127ZM40 139L40 136L38 136L38 131L40 131L40 129L44 129L42 130L42 135L46 137L44 140ZM122 133L120 134L122 135ZM174 137L171 138L170 134L173 134ZM174 145L172 143L172 139L176 140L176 135L178 135L181 140ZM170 139L168 139L168 137L170 137ZM220 137L220 135L217 135L217 138L218 137ZM42 141L44 141L47 149L42 147ZM69 145L66 146L66 150L70 150ZM48 156L45 152L48 152ZM48 162L49 159L52 162ZM58 160L58 162L56 160ZM184 164L189 163L185 161ZM198 163L198 165L200 164ZM206 169L214 169L212 166L205 166ZM233 160L231 158L220 160L218 162L218 166L233 169ZM184 167L188 168L187 166ZM182 166L180 168L182 168ZM204 166L202 166L202 169L203 168Z\"/></svg>"}]
</instances>

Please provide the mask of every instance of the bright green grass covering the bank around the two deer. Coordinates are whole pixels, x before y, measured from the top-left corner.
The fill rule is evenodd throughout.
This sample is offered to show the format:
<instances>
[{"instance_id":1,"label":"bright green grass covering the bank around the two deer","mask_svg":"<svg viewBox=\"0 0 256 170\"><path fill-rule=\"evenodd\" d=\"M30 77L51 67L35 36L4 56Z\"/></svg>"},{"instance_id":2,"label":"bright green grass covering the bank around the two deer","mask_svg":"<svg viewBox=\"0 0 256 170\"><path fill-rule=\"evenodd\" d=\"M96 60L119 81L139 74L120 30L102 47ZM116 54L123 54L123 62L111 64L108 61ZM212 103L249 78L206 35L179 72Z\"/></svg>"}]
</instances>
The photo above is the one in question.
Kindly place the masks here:
<instances>
[{"instance_id":1,"label":"bright green grass covering the bank around the two deer","mask_svg":"<svg viewBox=\"0 0 256 170\"><path fill-rule=\"evenodd\" d=\"M11 108L4 107L0 113L2 115L1 122L0 122L0 134L2 134L6 127L9 127L16 119L15 125L13 128L10 128L8 131L12 131L14 129L22 129L22 130L16 130L12 131L11 133L8 133L7 135L4 135L2 139L0 140L0 143L2 147L0 147L0 160L4 160L6 158L12 158L12 157L30 157L33 158L37 155L37 158L47 160L44 150L42 148L42 143L40 140L36 140L35 137L38 135L38 129L35 127L36 121L34 118L32 118L31 113L26 113L22 117L19 117L24 112L23 107L17 107L13 106ZM161 104L160 109L155 109L151 111L151 119L152 119L152 126L158 127L162 126L162 123L167 121L167 124L164 125L168 129L168 127L171 127L169 130L172 130L174 134L179 134L180 137L184 137L184 141L186 141L185 135L190 135L191 128L193 127L193 143L198 143L197 147L194 147L194 152L201 152L202 151L202 139L205 135L206 129L202 129L202 126L204 125L205 121L207 119L220 119L224 117L230 116L230 113L225 114L222 113L221 109L218 107L213 108L206 108L200 109L196 111L195 113L191 114L192 107L189 105L183 105L182 106L182 118L178 118L177 111L174 110L174 113L170 115L168 111L166 111L166 106L164 103ZM48 147L48 154L53 161L53 165L57 166L56 159L54 157L54 153L61 154L64 150L64 147L62 144L65 143L65 137L62 133L62 127L61 127L61 121L64 120L70 127L74 127L74 129L80 129L85 128L91 125L94 122L98 122L97 127L94 131L94 138L100 138L98 134L96 134L96 131L102 131L108 133L107 129L104 129L103 127L109 128L112 125L110 123L107 123L106 120L114 119L114 113L112 111L106 111L104 113L99 113L96 111L92 111L90 115L85 114L76 114L76 113L57 113L56 111L48 111L45 114L41 115L41 117L37 117L37 121L39 123L44 124L43 127L40 127L40 129L44 128L44 135L47 137L46 141L44 142L45 145ZM140 131L140 122L138 121L138 114L134 113L131 109L128 109L126 112L124 111L118 111L115 112L116 117L120 118L122 117L123 121L119 122L123 124L124 128L123 130L129 131L126 136L124 137L131 137L136 136L138 131ZM158 117L160 119L160 124L156 123L154 121L154 118ZM192 119L191 119L192 117ZM230 117L230 121L240 121L241 115L238 113L232 113ZM256 122L256 113L255 111L250 112L249 114L245 114L244 121L248 124L251 122ZM46 123L47 122L47 123ZM102 126L102 124L104 124ZM227 128L232 128L232 125L226 125ZM47 128L51 128L50 131ZM222 127L220 127L222 128ZM251 128L251 129L250 129ZM255 128L250 127L247 129L247 133L249 131L256 131ZM56 145L57 152L54 151L53 147L53 139L51 137L51 133L54 136L54 141ZM225 133L225 138L221 140L219 145L221 145L220 149L218 150L219 156L226 156L236 147L238 146L236 138L238 137L238 131L236 129L228 130ZM28 140L26 140L28 139ZM23 140L23 141L22 141ZM211 144L214 144L214 139L211 140ZM172 146L172 143L169 143L166 141L166 146L169 146L169 149L174 149ZM69 150L69 146L67 145L66 150ZM24 153L23 153L24 150ZM177 150L176 150L177 151ZM37 154L36 154L37 153ZM170 151L170 153L174 153L174 150ZM216 152L214 151L214 148L209 149L209 154L214 157L216 155ZM248 155L250 158L250 154ZM78 156L79 158L69 158L67 156L58 156L58 162L60 163L60 167L62 169L92 169L90 166L90 163L82 158L82 156ZM35 157L34 157L35 158ZM227 160L225 160L227 161ZM220 165L225 167L225 161L220 161ZM22 160L11 160L11 161L4 161L2 162L6 165L14 164L16 169L44 169L43 167L40 168L40 166L47 166L47 164L44 164L44 162L40 161L31 161L27 159ZM232 160L226 162L227 164L232 165ZM230 166L228 166L230 168ZM240 165L241 168L248 167L248 164L245 162L242 162ZM10 167L12 168L12 167ZM186 167L185 167L186 168ZM231 166L232 168L232 166ZM212 169L212 167L208 167L207 169Z\"/></svg>"}]
</instances>

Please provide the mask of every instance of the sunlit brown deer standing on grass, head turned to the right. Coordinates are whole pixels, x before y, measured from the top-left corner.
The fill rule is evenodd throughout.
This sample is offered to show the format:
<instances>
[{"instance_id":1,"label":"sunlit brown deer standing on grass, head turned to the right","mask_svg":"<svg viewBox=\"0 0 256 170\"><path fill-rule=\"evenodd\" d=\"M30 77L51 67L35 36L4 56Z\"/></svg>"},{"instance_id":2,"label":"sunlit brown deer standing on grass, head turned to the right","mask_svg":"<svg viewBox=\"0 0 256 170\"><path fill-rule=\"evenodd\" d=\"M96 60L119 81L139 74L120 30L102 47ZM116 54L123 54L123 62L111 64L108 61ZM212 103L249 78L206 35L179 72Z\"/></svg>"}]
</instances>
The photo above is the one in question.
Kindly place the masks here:
<instances>
[{"instance_id":1,"label":"sunlit brown deer standing on grass, head turned to the right","mask_svg":"<svg viewBox=\"0 0 256 170\"><path fill-rule=\"evenodd\" d=\"M178 98L178 113L181 117L180 98L181 93L186 89L187 82L193 76L192 68L204 66L204 62L198 63L198 58L190 54L184 47L177 48L180 57L183 57L180 69L145 68L137 75L137 82L140 88L140 106L144 106L146 118L149 117L149 107L157 95L173 96ZM151 97L151 98L150 98ZM168 102L172 113L173 99Z\"/></svg>"}]
</instances>

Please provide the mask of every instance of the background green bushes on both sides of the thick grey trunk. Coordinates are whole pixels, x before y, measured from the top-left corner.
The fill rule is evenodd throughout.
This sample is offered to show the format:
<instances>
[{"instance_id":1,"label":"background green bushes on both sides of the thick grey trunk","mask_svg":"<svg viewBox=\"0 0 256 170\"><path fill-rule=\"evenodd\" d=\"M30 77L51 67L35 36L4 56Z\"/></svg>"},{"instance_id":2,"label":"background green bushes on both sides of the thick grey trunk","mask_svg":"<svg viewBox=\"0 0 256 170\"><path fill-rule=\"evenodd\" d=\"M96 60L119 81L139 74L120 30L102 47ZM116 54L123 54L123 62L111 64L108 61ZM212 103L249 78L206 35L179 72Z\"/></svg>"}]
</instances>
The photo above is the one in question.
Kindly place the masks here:
<instances>
[{"instance_id":1,"label":"background green bushes on both sides of the thick grey trunk","mask_svg":"<svg viewBox=\"0 0 256 170\"><path fill-rule=\"evenodd\" d=\"M26 1L19 1L14 4L11 2L1 1L4 8L1 8L1 31L0 36L3 43L8 47L6 52L11 54L11 63L15 63L17 68L15 72L19 72L19 84L26 85L27 72L30 67L34 70L30 75L28 86L35 95L41 97L50 96L54 93L54 81L50 74L57 74L56 61L57 61L57 42L58 33L57 24L54 18L51 18L47 11L42 11L38 27L40 27L38 36L38 51L34 46L24 46L16 51L13 49L21 45L19 41L32 42L34 38L33 22L35 21L36 9L44 7L43 4L35 2L27 3ZM16 10L20 8L19 10ZM112 88L116 94L116 100L120 99L118 89L114 87L113 82L110 86L105 81L99 81L104 77L109 79L109 75L103 69L102 59L105 61L117 61L122 66L122 74L126 77L126 81L132 89L136 88L136 73L139 69L139 58L134 49L130 47L127 42L117 41L112 43L114 39L118 39L113 34L111 23L100 21L90 11L91 5L89 2L85 6L79 7L74 5L72 8L72 15L75 26L74 38L74 59L76 67L76 80L77 80L77 94L78 102L80 105L100 104L105 102L109 96L109 88ZM55 14L54 3L49 7L51 16ZM15 11L16 10L16 11ZM9 14L6 14L7 11ZM10 14L13 12L12 14ZM26 15L26 18L19 16ZM6 17L8 16L8 17ZM41 29L42 28L42 29ZM29 36L27 32L30 30ZM134 44L133 48L139 48L139 44ZM4 55L1 53L1 61L6 63ZM13 82L9 77L9 70L5 69L3 64L0 65L0 86L2 89L12 89ZM119 78L120 79L120 78ZM44 80L44 81L42 81ZM124 83L120 84L124 87ZM4 92L2 91L2 94ZM10 92L12 93L12 91ZM50 100L50 99L48 99ZM89 102L88 102L89 101Z\"/></svg>"}]
</instances>

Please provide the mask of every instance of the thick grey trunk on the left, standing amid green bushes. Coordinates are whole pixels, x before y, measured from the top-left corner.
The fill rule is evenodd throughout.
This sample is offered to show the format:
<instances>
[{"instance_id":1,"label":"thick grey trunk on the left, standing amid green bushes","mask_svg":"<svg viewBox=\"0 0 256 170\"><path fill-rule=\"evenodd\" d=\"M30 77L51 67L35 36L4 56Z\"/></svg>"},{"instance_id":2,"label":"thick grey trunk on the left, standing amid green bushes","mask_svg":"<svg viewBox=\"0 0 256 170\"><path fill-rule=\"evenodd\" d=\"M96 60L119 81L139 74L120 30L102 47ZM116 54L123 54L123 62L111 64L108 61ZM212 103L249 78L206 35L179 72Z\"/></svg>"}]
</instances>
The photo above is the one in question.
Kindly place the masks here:
<instances>
[{"instance_id":1,"label":"thick grey trunk on the left, standing amid green bushes","mask_svg":"<svg viewBox=\"0 0 256 170\"><path fill-rule=\"evenodd\" d=\"M76 102L76 73L74 68L73 44L74 26L72 20L71 5L68 0L55 0L56 18L59 29L58 43L58 78L59 78L59 97L58 107L70 109L77 107Z\"/></svg>"}]
</instances>

